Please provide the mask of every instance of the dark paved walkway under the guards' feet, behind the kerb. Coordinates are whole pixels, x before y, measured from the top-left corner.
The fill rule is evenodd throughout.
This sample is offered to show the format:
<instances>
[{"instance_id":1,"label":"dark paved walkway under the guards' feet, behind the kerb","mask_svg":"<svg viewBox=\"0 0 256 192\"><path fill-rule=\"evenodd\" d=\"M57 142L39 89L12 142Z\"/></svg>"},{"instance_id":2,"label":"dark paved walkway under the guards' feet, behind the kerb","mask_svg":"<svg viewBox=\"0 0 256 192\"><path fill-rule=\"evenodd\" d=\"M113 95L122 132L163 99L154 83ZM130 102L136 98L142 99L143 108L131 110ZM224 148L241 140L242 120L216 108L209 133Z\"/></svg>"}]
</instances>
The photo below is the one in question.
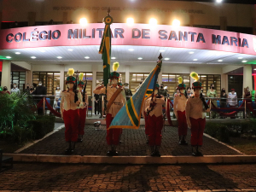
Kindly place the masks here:
<instances>
[{"instance_id":1,"label":"dark paved walkway under the guards' feet, behind the kerb","mask_svg":"<svg viewBox=\"0 0 256 192\"><path fill-rule=\"evenodd\" d=\"M55 132L44 140L21 151L20 154L64 154L67 148L64 137L65 129ZM106 143L106 126L102 125L100 131L96 131L93 125L85 126L83 143L77 143L74 154L79 155L106 155L108 146ZM190 131L188 131L190 136ZM190 155L189 146L179 146L177 137L177 127L166 126L166 131L162 134L162 145L160 153L162 155ZM204 137L202 153L206 155L228 155L239 154L235 150L218 143L211 138ZM122 143L119 145L120 155L149 155L149 148L146 144L144 126L138 130L123 130ZM188 137L188 143L190 137Z\"/></svg>"}]
</instances>

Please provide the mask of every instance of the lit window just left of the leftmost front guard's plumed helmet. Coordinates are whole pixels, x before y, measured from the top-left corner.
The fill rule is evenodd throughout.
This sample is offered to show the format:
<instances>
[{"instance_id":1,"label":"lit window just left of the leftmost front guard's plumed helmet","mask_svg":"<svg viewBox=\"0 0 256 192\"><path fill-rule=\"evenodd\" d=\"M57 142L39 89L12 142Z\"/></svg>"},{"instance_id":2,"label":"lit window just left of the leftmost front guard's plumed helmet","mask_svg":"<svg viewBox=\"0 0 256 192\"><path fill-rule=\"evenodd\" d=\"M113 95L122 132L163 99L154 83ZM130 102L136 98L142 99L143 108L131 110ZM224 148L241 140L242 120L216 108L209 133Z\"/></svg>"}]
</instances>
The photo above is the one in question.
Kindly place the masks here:
<instances>
[{"instance_id":1,"label":"lit window just left of the leftmost front guard's plumed helmet","mask_svg":"<svg viewBox=\"0 0 256 192\"><path fill-rule=\"evenodd\" d=\"M47 95L55 95L57 85L60 85L59 72L33 72L33 86L37 87L39 81L46 87Z\"/></svg>"}]
</instances>

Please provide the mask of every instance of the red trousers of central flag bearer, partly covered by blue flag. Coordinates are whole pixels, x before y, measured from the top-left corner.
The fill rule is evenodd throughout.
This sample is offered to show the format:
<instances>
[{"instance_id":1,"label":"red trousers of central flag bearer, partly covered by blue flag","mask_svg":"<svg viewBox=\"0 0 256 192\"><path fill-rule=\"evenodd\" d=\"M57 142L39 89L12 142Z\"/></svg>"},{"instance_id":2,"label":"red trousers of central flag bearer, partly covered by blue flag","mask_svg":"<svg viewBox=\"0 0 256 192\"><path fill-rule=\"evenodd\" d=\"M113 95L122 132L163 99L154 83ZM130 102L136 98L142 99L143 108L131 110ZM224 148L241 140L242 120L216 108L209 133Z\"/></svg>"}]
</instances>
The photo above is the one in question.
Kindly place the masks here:
<instances>
[{"instance_id":1,"label":"red trousers of central flag bearer, partly covered by blue flag","mask_svg":"<svg viewBox=\"0 0 256 192\"><path fill-rule=\"evenodd\" d=\"M119 136L121 134L122 129L114 128L108 130L111 122L113 120L112 114L108 113L106 117L106 125L107 125L107 143L108 145L118 145L119 144Z\"/></svg>"}]
</instances>

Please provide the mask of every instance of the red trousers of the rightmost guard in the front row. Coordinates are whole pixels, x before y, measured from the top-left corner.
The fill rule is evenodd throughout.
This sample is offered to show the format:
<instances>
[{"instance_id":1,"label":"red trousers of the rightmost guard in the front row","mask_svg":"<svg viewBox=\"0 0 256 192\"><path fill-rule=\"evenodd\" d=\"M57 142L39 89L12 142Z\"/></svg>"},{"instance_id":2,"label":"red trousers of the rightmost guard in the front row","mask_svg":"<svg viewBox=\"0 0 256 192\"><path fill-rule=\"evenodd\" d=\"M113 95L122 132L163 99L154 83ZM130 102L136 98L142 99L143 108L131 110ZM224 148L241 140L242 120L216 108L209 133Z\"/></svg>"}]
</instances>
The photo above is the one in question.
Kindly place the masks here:
<instances>
[{"instance_id":1,"label":"red trousers of the rightmost guard in the front row","mask_svg":"<svg viewBox=\"0 0 256 192\"><path fill-rule=\"evenodd\" d=\"M206 126L206 118L204 119L193 119L189 118L191 123L191 145L201 146L202 137Z\"/></svg>"}]
</instances>

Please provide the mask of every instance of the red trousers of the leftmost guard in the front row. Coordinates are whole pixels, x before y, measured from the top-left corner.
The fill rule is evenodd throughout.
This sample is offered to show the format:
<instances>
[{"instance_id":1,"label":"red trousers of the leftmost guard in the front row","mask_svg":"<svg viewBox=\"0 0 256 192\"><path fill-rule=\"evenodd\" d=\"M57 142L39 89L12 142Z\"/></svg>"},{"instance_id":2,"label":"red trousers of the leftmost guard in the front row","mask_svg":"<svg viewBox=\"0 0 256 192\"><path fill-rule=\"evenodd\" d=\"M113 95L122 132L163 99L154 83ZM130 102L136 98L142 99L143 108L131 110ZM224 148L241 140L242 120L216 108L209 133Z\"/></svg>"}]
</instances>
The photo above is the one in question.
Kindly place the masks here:
<instances>
[{"instance_id":1,"label":"red trousers of the leftmost guard in the front row","mask_svg":"<svg viewBox=\"0 0 256 192\"><path fill-rule=\"evenodd\" d=\"M65 124L65 139L66 142L78 141L79 128L79 109L64 110L63 119Z\"/></svg>"}]
</instances>

